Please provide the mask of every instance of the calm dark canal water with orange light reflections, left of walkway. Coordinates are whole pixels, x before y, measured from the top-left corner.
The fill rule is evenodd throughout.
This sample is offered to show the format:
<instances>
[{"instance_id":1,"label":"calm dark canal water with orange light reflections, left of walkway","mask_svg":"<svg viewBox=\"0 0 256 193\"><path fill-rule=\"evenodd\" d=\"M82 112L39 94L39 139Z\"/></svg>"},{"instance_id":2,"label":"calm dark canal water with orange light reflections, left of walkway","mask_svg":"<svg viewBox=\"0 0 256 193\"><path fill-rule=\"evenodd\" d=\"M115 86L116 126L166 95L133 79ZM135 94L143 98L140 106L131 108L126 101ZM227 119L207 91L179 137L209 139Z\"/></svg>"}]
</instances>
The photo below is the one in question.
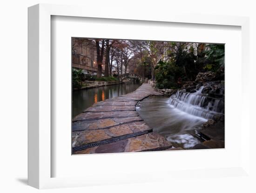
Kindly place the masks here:
<instances>
[{"instance_id":1,"label":"calm dark canal water with orange light reflections, left of walkway","mask_svg":"<svg viewBox=\"0 0 256 193\"><path fill-rule=\"evenodd\" d=\"M140 85L141 83L130 82L91 89L74 90L72 94L72 116L74 118L74 116L77 116L83 110L99 101L133 92Z\"/></svg>"}]
</instances>

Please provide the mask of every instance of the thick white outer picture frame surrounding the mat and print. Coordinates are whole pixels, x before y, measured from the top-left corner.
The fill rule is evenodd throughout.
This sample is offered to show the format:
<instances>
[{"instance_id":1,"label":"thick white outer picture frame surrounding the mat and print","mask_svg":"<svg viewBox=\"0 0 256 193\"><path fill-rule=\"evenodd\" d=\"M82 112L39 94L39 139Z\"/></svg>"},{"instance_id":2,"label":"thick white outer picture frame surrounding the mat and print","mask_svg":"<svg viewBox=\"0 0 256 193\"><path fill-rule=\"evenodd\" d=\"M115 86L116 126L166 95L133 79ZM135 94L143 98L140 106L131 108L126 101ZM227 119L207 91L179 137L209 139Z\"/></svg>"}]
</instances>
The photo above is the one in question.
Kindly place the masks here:
<instances>
[{"instance_id":1,"label":"thick white outer picture frame surrounding the mat and print","mask_svg":"<svg viewBox=\"0 0 256 193\"><path fill-rule=\"evenodd\" d=\"M108 10L95 13L84 11L83 6L64 6L38 4L28 8L28 184L36 188L77 187L100 184L154 182L158 176L169 179L173 176L190 175L190 178L202 177L206 172L212 176L248 176L249 161L249 100L243 100L241 110L241 164L237 167L205 168L193 171L152 171L148 174L125 174L117 178L52 177L51 169L51 16L71 16L105 19L130 19L140 21L174 22L202 25L240 26L242 31L242 98L247 95L249 80L249 18L237 16L200 15L188 13L163 13L153 16L150 13L118 13L110 16ZM150 171L149 171L150 172ZM188 173L188 174L187 174ZM222 175L225 173L225 175ZM142 178L144 176L144 178ZM146 176L146 177L145 177ZM148 177L147 177L148 176ZM143 179L143 180L141 180Z\"/></svg>"}]
</instances>

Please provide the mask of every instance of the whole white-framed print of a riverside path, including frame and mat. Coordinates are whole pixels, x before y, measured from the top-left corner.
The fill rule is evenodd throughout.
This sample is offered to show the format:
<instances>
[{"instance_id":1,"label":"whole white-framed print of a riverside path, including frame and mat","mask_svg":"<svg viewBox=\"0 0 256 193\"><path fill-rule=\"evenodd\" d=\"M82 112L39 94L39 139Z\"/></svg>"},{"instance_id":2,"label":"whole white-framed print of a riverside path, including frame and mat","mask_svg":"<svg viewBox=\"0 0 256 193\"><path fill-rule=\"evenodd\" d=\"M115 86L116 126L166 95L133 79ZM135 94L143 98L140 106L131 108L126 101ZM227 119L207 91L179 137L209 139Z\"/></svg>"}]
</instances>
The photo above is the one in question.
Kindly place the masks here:
<instances>
[{"instance_id":1,"label":"whole white-framed print of a riverside path, including frame and mat","mask_svg":"<svg viewBox=\"0 0 256 193\"><path fill-rule=\"evenodd\" d=\"M84 10L28 9L29 185L248 176L249 19Z\"/></svg>"}]
</instances>

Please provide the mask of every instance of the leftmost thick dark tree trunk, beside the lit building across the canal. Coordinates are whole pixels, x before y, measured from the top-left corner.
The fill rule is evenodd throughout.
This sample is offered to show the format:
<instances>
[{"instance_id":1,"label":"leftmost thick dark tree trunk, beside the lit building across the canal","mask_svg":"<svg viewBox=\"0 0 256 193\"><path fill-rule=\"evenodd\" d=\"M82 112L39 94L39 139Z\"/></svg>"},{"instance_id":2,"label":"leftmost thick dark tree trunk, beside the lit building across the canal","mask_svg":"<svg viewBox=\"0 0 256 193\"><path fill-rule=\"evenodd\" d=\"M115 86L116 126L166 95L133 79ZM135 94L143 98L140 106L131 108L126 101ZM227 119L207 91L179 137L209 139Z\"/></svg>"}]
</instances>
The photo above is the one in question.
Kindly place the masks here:
<instances>
[{"instance_id":1,"label":"leftmost thick dark tree trunk, beside the lit building across the canal","mask_svg":"<svg viewBox=\"0 0 256 193\"><path fill-rule=\"evenodd\" d=\"M104 54L104 44L105 40L95 39L96 42L96 50L97 50L97 78L102 77L102 61L103 61L103 54Z\"/></svg>"}]
</instances>

